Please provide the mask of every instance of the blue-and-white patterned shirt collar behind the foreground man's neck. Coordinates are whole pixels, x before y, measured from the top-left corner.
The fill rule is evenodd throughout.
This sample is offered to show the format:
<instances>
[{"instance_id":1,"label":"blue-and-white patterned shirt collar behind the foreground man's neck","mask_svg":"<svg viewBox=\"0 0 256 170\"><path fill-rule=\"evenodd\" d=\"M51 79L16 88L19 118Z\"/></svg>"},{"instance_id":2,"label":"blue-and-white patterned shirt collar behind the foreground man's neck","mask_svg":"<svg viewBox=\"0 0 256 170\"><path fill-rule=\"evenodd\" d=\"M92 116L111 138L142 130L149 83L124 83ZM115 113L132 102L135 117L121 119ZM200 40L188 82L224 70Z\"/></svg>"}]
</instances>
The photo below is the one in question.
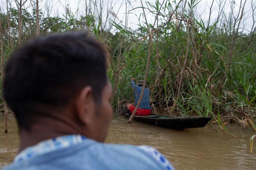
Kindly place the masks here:
<instances>
[{"instance_id":1,"label":"blue-and-white patterned shirt collar behind the foreground man's neck","mask_svg":"<svg viewBox=\"0 0 256 170\"><path fill-rule=\"evenodd\" d=\"M14 162L24 161L60 148L69 147L83 142L86 137L82 135L65 135L57 138L44 140L34 146L27 147L20 152L14 159Z\"/></svg>"}]
</instances>

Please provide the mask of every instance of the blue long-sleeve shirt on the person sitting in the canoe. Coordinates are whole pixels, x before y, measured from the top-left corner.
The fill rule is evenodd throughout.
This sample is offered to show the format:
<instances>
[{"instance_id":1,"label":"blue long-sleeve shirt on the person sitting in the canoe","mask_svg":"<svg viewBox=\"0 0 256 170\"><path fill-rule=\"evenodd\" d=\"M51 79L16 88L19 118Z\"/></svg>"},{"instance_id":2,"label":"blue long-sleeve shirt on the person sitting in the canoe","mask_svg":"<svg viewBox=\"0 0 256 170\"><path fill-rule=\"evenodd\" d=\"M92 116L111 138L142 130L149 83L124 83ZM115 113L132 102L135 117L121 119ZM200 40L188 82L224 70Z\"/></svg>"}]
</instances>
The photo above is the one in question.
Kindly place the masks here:
<instances>
[{"instance_id":1,"label":"blue long-sleeve shirt on the person sitting in the canoe","mask_svg":"<svg viewBox=\"0 0 256 170\"><path fill-rule=\"evenodd\" d=\"M135 96L135 106L138 104L140 94L142 91L142 86L136 85L134 81L131 81L132 88L134 89L134 96ZM145 88L142 101L139 105L140 109L150 109L150 103L149 103L149 90L148 88Z\"/></svg>"}]
</instances>

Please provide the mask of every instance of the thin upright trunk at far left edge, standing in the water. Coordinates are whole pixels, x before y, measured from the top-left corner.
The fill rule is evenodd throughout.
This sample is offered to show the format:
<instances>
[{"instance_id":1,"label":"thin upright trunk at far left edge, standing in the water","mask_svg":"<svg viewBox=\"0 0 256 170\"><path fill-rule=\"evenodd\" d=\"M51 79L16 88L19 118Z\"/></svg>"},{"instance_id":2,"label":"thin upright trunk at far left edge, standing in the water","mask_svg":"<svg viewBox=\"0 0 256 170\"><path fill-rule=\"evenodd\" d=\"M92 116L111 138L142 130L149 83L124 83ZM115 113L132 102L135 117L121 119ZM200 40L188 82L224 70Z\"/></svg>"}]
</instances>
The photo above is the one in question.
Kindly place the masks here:
<instances>
[{"instance_id":1,"label":"thin upright trunk at far left edge, standing in the water","mask_svg":"<svg viewBox=\"0 0 256 170\"><path fill-rule=\"evenodd\" d=\"M0 20L0 40L1 40L1 67L2 67L2 82L4 80L4 38L3 38L3 30L2 30L2 24ZM3 89L3 84L2 84L2 89ZM4 100L4 97L3 97ZM7 127L7 122L8 122L8 115L7 115L7 106L4 101L4 132L8 132L8 127Z\"/></svg>"}]
</instances>

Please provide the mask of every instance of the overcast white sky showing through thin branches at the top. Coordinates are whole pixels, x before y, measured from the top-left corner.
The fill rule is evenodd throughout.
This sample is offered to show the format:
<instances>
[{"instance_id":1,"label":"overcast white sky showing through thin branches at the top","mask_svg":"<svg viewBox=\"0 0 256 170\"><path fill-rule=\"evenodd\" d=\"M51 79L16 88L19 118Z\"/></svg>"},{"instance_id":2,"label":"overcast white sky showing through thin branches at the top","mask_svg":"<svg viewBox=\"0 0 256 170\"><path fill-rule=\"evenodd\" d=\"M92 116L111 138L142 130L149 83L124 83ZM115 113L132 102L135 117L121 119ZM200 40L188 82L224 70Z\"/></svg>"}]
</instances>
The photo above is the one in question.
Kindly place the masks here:
<instances>
[{"instance_id":1,"label":"overcast white sky showing through thin branches at the top","mask_svg":"<svg viewBox=\"0 0 256 170\"><path fill-rule=\"evenodd\" d=\"M15 0L11 0L12 1L12 5L14 7L15 6ZM33 0L28 0L26 3L26 7L28 7L30 5L30 1ZM34 0L35 1L35 0ZM89 0L87 0L88 3ZM99 1L99 0L98 0ZM103 2L103 8L106 7L106 1L107 0L101 0ZM125 20L125 0L113 0L114 1L114 9L113 12L117 13L117 11L119 10L119 12L117 13L117 16L120 20ZM130 9L132 8L136 8L136 7L141 7L141 3L140 0L129 0L131 2L131 6ZM155 0L142 0L144 6L146 6L146 1L149 1L150 3L155 3ZM162 3L163 0L159 0L160 3ZM173 0L170 0L171 2ZM176 0L177 1L177 0ZM185 1L185 0L184 0ZM190 0L188 0L190 1ZM217 17L217 13L218 13L218 2L222 1L222 0L214 0L214 4L212 7L212 15L211 15L211 20L214 20ZM52 15L56 15L57 13L59 14L59 16L62 16L62 14L64 13L64 6L69 4L69 7L71 9L71 11L73 13L75 13L75 11L77 9L79 9L79 13L80 14L84 14L84 5L83 3L85 2L85 0L39 0L39 9L41 9L42 11L45 11L45 4L52 4L53 8L52 8ZM239 5L240 5L240 0L235 0L236 4L235 4L235 9L237 10ZM242 0L242 2L244 2L244 0ZM201 16L201 18L205 21L208 20L209 17L209 12L210 12L210 5L212 3L212 0L201 0L199 2L199 4L197 5L197 14L199 14ZM256 5L256 0L247 0L246 1L246 6L245 6L245 22L243 24L245 28L249 29L251 28L253 21L252 21L252 9L251 9L251 3L253 3L254 5ZM0 5L2 10L6 10L6 0L0 0ZM229 0L227 0L226 6L225 6L225 11L228 13L228 11L230 10L230 4L229 4ZM137 24L139 23L138 18L136 17L140 15L140 13L142 13L142 9L138 8L135 9L134 11L131 11L131 14L129 14L129 18L128 18L128 27L131 28L137 28ZM256 12L256 11L255 11ZM133 13L133 14L132 14ZM135 14L136 15L135 15ZM149 11L146 11L146 13L149 13ZM255 13L256 15L256 13ZM79 16L79 15L78 15ZM147 15L147 19L149 23L153 23L154 22L154 18L151 17L150 14ZM142 20L142 18L140 19ZM143 19L144 21L144 19Z\"/></svg>"}]
</instances>

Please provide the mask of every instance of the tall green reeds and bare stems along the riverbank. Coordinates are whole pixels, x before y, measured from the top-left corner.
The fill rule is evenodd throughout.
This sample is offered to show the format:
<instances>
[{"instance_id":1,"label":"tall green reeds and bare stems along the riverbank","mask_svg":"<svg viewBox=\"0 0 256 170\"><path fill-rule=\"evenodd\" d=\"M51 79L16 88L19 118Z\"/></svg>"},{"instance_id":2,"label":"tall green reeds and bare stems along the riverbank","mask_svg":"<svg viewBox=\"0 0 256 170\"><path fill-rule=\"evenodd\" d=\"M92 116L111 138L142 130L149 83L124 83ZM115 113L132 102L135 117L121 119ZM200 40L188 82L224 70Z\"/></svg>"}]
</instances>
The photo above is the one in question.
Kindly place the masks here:
<instances>
[{"instance_id":1,"label":"tall green reeds and bare stems along the riverbank","mask_svg":"<svg viewBox=\"0 0 256 170\"><path fill-rule=\"evenodd\" d=\"M76 11L59 3L65 9L61 15L51 13L50 1L41 9L38 0L2 2L1 70L14 49L39 34L87 29L111 54L108 76L116 114L133 101L131 77L146 74L154 113L213 116L226 132L230 121L256 131L255 1L212 0L202 7L197 0L156 0L133 7L124 0L122 19L113 0L83 0ZM131 16L136 28L129 27ZM8 112L0 101L2 112Z\"/></svg>"}]
</instances>

